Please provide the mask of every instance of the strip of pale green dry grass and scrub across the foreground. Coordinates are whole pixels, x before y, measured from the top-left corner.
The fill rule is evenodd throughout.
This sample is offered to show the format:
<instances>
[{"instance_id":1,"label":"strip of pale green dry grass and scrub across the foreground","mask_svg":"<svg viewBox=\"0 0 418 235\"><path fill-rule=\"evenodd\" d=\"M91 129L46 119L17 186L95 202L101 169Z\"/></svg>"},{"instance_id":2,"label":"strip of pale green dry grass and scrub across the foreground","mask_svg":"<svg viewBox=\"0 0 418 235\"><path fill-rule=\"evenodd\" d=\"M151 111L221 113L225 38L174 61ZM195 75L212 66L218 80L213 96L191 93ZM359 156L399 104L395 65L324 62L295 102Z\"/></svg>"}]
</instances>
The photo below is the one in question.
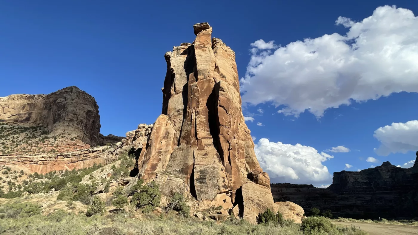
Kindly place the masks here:
<instances>
[{"instance_id":1,"label":"strip of pale green dry grass and scrub across the foreground","mask_svg":"<svg viewBox=\"0 0 418 235\"><path fill-rule=\"evenodd\" d=\"M0 233L13 235L303 235L300 225L252 225L243 220L200 221L197 218L184 218L173 212L168 214L140 212L106 213L104 216L86 217L79 213L58 209L54 212L35 208L25 213L10 212L12 208L23 208L18 203L0 204ZM15 202L15 201L14 201ZM25 204L27 205L27 203ZM8 208L8 212L1 208ZM25 208L25 207L24 207ZM2 214L3 213L3 214ZM336 229L333 232L312 232L310 235L364 235L365 233L351 228Z\"/></svg>"}]
</instances>

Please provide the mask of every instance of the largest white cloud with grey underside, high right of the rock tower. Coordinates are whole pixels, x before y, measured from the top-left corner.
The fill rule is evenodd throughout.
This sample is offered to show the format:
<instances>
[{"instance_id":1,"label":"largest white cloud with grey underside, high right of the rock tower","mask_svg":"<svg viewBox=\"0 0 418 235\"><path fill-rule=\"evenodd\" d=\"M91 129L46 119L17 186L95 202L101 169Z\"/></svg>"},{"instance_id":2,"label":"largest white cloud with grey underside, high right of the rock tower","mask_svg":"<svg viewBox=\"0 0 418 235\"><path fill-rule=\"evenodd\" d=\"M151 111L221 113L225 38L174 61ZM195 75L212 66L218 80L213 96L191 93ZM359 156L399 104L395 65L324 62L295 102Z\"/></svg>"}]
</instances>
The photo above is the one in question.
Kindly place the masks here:
<instances>
[{"instance_id":1,"label":"largest white cloud with grey underside, high right of the rock tower","mask_svg":"<svg viewBox=\"0 0 418 235\"><path fill-rule=\"evenodd\" d=\"M252 56L241 79L242 100L272 102L278 112L298 116L393 92L418 92L418 18L413 12L384 6L357 23L339 17L346 35L276 46L252 43Z\"/></svg>"}]
</instances>

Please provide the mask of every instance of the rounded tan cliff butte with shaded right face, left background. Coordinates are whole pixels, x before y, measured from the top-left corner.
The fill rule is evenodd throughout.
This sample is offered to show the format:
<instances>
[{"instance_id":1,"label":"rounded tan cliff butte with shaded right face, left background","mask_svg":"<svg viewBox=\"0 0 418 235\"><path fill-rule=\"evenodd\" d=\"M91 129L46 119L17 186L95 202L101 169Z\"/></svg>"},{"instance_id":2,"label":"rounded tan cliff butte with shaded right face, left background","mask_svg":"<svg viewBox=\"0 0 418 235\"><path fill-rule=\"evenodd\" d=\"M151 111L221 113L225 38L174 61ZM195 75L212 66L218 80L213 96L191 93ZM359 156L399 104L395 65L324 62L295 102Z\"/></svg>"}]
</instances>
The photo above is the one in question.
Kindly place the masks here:
<instances>
[{"instance_id":1,"label":"rounded tan cliff butte with shaded right face, left background","mask_svg":"<svg viewBox=\"0 0 418 235\"><path fill-rule=\"evenodd\" d=\"M0 122L43 126L51 136L69 134L92 146L99 142L99 106L75 86L48 95L0 97Z\"/></svg>"}]
</instances>

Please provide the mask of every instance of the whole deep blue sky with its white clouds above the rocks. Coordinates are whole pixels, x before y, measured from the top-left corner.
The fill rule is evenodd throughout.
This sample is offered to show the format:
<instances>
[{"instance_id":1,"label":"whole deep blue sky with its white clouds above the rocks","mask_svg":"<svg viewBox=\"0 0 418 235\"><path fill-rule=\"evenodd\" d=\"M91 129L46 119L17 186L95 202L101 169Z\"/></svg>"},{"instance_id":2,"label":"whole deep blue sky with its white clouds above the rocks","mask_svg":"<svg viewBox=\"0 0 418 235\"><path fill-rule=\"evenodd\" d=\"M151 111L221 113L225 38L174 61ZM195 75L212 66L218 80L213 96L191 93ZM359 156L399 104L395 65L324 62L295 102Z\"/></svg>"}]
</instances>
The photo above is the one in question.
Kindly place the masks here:
<instances>
[{"instance_id":1,"label":"whole deep blue sky with its white clouds above the rocks","mask_svg":"<svg viewBox=\"0 0 418 235\"><path fill-rule=\"evenodd\" d=\"M415 1L2 1L0 96L78 86L99 104L102 134L124 136L161 113L164 53L209 22L236 53L243 112L272 182L326 185L335 171L415 160L418 24L375 11L383 5L418 12ZM350 151L324 152L337 146Z\"/></svg>"}]
</instances>

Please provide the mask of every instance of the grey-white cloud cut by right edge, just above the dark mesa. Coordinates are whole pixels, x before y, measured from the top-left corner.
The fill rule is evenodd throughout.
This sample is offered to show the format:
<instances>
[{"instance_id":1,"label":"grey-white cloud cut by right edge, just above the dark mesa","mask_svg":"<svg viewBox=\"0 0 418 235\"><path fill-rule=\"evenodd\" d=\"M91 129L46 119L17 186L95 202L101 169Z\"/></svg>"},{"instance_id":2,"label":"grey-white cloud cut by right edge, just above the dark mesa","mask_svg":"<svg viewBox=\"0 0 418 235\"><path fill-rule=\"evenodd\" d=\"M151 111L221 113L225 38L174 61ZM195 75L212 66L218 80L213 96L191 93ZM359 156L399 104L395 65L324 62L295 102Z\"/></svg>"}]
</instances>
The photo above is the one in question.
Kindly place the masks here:
<instances>
[{"instance_id":1,"label":"grey-white cloud cut by right edge, just above the dark mesa","mask_svg":"<svg viewBox=\"0 0 418 235\"><path fill-rule=\"evenodd\" d=\"M373 135L381 145L375 152L381 156L390 153L406 153L418 150L418 121L406 123L392 123L390 126L380 127Z\"/></svg>"}]
</instances>

